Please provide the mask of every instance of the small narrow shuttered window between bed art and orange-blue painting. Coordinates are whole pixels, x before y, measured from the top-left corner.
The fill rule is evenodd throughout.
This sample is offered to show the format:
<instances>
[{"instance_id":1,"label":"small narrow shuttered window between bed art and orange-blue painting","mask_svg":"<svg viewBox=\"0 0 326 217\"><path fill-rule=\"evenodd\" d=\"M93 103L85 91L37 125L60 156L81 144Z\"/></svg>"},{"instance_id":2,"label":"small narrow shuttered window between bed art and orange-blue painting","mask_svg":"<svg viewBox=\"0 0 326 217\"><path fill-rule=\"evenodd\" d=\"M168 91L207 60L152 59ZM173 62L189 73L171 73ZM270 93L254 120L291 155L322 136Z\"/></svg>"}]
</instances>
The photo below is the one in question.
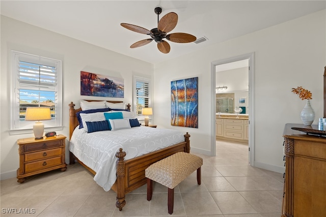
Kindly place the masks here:
<instances>
[{"instance_id":1,"label":"small narrow shuttered window between bed art and orange-blue painting","mask_svg":"<svg viewBox=\"0 0 326 217\"><path fill-rule=\"evenodd\" d=\"M150 79L134 76L133 81L134 113L137 118L144 119L144 117L141 116L142 108L150 107L151 104Z\"/></svg>"}]
</instances>

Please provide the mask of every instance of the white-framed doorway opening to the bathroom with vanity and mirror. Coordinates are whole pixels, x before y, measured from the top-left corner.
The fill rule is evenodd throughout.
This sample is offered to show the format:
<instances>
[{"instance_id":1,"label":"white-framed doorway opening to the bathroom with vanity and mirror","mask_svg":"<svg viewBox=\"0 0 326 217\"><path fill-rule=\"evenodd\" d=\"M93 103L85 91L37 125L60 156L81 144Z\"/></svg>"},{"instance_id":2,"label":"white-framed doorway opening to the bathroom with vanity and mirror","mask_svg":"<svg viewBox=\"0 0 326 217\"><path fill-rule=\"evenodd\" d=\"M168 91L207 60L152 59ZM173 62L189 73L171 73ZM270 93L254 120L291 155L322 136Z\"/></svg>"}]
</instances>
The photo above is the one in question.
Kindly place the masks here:
<instances>
[{"instance_id":1,"label":"white-framed doorway opening to the bathroom with vanity and mirror","mask_svg":"<svg viewBox=\"0 0 326 217\"><path fill-rule=\"evenodd\" d=\"M216 151L216 140L248 144L249 164L254 166L254 53L211 66L215 120L211 152Z\"/></svg>"}]
</instances>

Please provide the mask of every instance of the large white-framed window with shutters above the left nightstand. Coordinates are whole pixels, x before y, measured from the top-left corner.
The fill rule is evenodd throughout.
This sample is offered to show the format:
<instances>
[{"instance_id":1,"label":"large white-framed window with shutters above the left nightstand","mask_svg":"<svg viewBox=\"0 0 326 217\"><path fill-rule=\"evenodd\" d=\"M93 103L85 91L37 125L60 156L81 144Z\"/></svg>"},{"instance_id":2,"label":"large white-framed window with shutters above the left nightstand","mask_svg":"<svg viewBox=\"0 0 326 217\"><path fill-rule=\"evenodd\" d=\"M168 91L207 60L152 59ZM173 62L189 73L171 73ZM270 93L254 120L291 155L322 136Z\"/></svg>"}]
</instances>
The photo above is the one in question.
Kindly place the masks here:
<instances>
[{"instance_id":1,"label":"large white-framed window with shutters above the left nightstand","mask_svg":"<svg viewBox=\"0 0 326 217\"><path fill-rule=\"evenodd\" d=\"M11 134L33 128L34 122L25 121L27 107L49 107L45 128L62 129L61 87L60 60L12 51Z\"/></svg>"}]
</instances>

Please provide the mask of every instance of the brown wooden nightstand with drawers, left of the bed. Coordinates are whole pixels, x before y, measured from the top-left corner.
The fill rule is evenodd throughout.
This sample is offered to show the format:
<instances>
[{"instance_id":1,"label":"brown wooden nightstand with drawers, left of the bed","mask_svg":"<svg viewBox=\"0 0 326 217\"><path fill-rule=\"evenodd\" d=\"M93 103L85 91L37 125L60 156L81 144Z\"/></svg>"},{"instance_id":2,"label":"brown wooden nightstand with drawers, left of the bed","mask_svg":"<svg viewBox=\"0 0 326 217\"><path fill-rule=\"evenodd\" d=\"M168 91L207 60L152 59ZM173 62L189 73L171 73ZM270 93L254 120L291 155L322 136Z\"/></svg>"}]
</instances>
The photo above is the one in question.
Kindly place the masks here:
<instances>
[{"instance_id":1,"label":"brown wooden nightstand with drawers, left of the bed","mask_svg":"<svg viewBox=\"0 0 326 217\"><path fill-rule=\"evenodd\" d=\"M67 170L65 162L66 137L56 135L43 137L36 140L33 138L19 139L19 168L17 169L17 182L23 183L25 178L50 170Z\"/></svg>"}]
</instances>

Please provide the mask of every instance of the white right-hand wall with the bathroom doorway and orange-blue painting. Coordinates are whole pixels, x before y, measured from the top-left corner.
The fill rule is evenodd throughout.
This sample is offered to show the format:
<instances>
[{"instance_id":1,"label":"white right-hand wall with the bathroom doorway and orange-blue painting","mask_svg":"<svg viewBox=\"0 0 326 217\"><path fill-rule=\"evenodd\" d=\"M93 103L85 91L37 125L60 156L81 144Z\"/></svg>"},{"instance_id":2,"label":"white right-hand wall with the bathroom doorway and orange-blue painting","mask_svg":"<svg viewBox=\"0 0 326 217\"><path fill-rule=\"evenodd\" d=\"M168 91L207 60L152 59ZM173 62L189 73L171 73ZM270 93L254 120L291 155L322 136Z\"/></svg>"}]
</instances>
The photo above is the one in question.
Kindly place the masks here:
<instances>
[{"instance_id":1,"label":"white right-hand wall with the bathroom doorway and orange-blue painting","mask_svg":"<svg viewBox=\"0 0 326 217\"><path fill-rule=\"evenodd\" d=\"M211 62L255 52L255 160L257 167L283 172L283 128L301 123L305 101L291 92L312 92L315 122L323 116L323 69L326 65L326 11L238 37L201 52L154 66L155 124L191 134L193 151L208 153L211 137ZM212 20L212 23L214 20ZM198 129L170 126L170 82L198 76ZM158 115L157 115L158 114Z\"/></svg>"}]
</instances>

